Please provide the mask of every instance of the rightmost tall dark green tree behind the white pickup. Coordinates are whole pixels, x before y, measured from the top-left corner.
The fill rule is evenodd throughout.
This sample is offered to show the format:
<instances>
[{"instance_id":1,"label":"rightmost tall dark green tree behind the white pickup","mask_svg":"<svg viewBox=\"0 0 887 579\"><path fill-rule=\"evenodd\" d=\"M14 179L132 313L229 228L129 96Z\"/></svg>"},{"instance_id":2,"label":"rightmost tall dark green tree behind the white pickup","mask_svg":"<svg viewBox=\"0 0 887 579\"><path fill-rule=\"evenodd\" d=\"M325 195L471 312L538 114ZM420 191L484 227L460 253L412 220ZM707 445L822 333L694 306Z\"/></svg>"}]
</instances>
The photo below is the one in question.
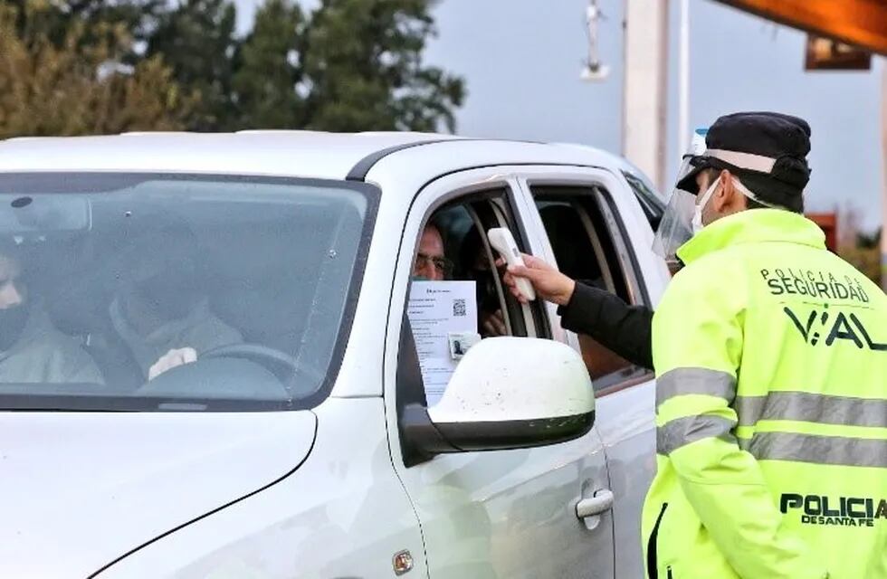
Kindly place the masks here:
<instances>
[{"instance_id":1,"label":"rightmost tall dark green tree behind the white pickup","mask_svg":"<svg viewBox=\"0 0 887 579\"><path fill-rule=\"evenodd\" d=\"M423 66L430 0L322 0L304 53L306 125L326 130L455 128L463 80Z\"/></svg>"}]
</instances>

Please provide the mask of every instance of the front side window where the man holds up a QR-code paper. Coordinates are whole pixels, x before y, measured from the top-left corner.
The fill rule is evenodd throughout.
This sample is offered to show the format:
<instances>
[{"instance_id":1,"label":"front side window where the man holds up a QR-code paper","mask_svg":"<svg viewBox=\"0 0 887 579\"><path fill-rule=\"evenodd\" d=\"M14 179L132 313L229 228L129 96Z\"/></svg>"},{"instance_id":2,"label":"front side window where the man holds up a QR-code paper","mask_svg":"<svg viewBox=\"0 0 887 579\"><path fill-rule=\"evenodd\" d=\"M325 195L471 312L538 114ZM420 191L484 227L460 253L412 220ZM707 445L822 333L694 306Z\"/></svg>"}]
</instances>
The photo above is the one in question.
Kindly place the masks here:
<instances>
[{"instance_id":1,"label":"front side window where the man holds up a QR-code paper","mask_svg":"<svg viewBox=\"0 0 887 579\"><path fill-rule=\"evenodd\" d=\"M407 319L418 362L423 365L422 379L429 404L434 404L436 398L443 394L445 381L449 378L446 375L446 366L452 371L477 339L500 336L550 337L548 320L539 303L522 305L510 294L502 281L502 271L496 267L499 255L487 239L487 232L491 228L508 227L519 248L525 251L527 247L523 235L520 234L509 193L504 187L484 190L437 207L425 216L424 225L415 240L410 295L415 298L414 290L421 288L416 284L423 281L469 282L472 289L468 294L469 299L465 300L468 303L453 300L452 309L447 302L440 311L446 316L452 314L453 318L466 312L469 315L476 312L473 322L476 323L478 334L473 341L455 341L453 334L430 337L426 329L427 320L423 325L416 316L415 308L419 304L410 300L407 305ZM462 299L464 298L460 298ZM444 359L442 365L442 356L450 357L452 361ZM434 381L429 380L429 364L441 366L444 384L437 382L441 375L435 376Z\"/></svg>"}]
</instances>

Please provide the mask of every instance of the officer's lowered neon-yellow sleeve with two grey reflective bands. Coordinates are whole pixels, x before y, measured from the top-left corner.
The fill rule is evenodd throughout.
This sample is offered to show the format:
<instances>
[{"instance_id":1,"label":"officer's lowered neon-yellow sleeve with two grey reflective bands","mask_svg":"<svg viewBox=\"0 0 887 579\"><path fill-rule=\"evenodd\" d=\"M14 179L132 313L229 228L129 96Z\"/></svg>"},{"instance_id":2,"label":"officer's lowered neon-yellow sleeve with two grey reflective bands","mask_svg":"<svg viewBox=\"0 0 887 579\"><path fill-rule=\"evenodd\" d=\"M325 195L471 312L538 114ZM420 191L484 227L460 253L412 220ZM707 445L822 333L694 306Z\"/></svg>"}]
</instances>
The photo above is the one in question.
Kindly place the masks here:
<instances>
[{"instance_id":1,"label":"officer's lowered neon-yellow sleeve with two grey reflective bands","mask_svg":"<svg viewBox=\"0 0 887 579\"><path fill-rule=\"evenodd\" d=\"M757 460L733 435L742 282L697 265L672 280L653 318L657 452L739 576L823 577L815 556L780 527Z\"/></svg>"}]
</instances>

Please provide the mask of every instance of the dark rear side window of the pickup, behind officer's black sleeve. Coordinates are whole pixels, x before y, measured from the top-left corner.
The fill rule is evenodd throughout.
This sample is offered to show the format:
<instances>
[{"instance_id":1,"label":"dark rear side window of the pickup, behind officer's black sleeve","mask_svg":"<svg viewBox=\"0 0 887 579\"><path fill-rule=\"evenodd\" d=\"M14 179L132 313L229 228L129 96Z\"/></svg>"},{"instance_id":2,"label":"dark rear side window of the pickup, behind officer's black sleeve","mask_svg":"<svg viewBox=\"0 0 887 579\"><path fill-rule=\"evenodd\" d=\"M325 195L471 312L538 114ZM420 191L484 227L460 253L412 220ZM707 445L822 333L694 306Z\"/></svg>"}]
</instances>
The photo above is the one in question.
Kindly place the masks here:
<instances>
[{"instance_id":1,"label":"dark rear side window of the pickup, behind officer's black sleeve","mask_svg":"<svg viewBox=\"0 0 887 579\"><path fill-rule=\"evenodd\" d=\"M560 271L626 303L649 302L615 205L603 187L531 185L530 190ZM649 377L649 370L617 356L594 338L579 334L578 340L597 394Z\"/></svg>"}]
</instances>

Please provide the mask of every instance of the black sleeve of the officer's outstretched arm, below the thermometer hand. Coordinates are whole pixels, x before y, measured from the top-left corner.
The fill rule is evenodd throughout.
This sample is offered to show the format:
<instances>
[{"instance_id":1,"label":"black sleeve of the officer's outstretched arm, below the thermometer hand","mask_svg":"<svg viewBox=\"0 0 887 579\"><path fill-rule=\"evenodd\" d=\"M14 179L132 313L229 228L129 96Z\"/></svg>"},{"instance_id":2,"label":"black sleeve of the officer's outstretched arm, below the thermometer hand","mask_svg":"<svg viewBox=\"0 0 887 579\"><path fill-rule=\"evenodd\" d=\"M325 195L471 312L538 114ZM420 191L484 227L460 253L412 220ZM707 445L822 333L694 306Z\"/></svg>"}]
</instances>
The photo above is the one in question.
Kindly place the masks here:
<instances>
[{"instance_id":1,"label":"black sleeve of the officer's outstretched arm, below the thermometer hand","mask_svg":"<svg viewBox=\"0 0 887 579\"><path fill-rule=\"evenodd\" d=\"M558 314L562 327L595 338L632 364L653 369L652 309L631 306L615 294L577 281Z\"/></svg>"}]
</instances>

